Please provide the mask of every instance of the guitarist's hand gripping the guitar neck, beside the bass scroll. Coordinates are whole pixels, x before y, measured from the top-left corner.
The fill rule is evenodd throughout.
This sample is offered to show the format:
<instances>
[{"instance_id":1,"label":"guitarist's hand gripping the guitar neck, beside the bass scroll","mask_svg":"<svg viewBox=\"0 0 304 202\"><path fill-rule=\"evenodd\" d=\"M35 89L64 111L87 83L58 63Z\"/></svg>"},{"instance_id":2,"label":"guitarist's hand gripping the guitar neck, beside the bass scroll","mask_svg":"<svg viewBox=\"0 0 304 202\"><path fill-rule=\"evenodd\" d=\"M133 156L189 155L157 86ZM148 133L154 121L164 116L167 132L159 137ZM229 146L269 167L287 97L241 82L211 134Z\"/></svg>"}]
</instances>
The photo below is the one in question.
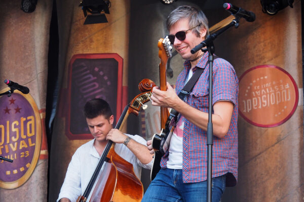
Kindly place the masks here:
<instances>
[{"instance_id":1,"label":"guitarist's hand gripping the guitar neck, beside the bass scroll","mask_svg":"<svg viewBox=\"0 0 304 202\"><path fill-rule=\"evenodd\" d=\"M159 87L154 87L150 97L151 104L165 108L175 108L178 102L182 101L176 94L172 86L167 82L167 90L160 90Z\"/></svg>"}]
</instances>

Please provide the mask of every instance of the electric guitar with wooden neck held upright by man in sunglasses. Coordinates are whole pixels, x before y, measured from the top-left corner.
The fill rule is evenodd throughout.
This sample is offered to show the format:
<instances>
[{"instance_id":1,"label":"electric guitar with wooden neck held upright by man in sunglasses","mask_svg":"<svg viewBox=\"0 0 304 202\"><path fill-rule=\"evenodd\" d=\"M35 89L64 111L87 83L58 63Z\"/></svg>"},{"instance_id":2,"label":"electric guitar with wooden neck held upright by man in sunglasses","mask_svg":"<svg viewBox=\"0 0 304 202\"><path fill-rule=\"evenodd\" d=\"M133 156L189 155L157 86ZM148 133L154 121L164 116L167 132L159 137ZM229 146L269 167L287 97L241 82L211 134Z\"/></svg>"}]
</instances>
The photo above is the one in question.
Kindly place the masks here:
<instances>
[{"instance_id":1,"label":"electric guitar with wooden neck held upright by man in sunglasses","mask_svg":"<svg viewBox=\"0 0 304 202\"><path fill-rule=\"evenodd\" d=\"M161 38L158 42L159 47L159 58L161 59L161 63L159 65L160 68L160 89L166 91L167 90L167 81L166 81L166 66L168 58L171 57L171 49L170 41L168 36L165 39ZM168 111L167 108L161 107L161 133L154 134L152 137L152 147L155 151L154 155L154 163L150 173L150 179L153 180L156 174L160 171L161 159L162 156L166 153L171 135L173 133L174 127L176 125L176 115L177 112L175 110Z\"/></svg>"}]
</instances>

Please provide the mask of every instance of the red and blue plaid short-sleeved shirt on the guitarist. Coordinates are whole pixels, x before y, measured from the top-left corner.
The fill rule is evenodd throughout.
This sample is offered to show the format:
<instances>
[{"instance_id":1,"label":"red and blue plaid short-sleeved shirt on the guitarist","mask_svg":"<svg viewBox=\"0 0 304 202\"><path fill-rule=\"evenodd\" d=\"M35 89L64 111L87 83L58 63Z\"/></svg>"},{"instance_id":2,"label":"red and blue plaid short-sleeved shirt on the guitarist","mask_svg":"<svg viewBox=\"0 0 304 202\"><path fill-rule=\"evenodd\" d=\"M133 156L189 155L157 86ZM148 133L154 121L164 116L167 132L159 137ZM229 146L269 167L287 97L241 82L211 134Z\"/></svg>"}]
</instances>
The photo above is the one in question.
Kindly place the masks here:
<instances>
[{"instance_id":1,"label":"red and blue plaid short-sleeved shirt on the guitarist","mask_svg":"<svg viewBox=\"0 0 304 202\"><path fill-rule=\"evenodd\" d=\"M194 68L205 68L208 54L204 54ZM184 81L191 68L185 61L184 69L177 77L176 93L184 86ZM213 136L212 177L226 175L226 186L235 186L238 177L238 77L233 66L223 60L213 62L213 95L212 104L219 100L229 100L234 104L231 125L223 138ZM209 65L206 66L192 92L187 95L186 103L196 109L208 113L209 97ZM168 149L169 150L169 149ZM161 167L166 168L169 153L163 156ZM200 182L207 180L207 132L184 118L183 130L183 182Z\"/></svg>"}]
</instances>

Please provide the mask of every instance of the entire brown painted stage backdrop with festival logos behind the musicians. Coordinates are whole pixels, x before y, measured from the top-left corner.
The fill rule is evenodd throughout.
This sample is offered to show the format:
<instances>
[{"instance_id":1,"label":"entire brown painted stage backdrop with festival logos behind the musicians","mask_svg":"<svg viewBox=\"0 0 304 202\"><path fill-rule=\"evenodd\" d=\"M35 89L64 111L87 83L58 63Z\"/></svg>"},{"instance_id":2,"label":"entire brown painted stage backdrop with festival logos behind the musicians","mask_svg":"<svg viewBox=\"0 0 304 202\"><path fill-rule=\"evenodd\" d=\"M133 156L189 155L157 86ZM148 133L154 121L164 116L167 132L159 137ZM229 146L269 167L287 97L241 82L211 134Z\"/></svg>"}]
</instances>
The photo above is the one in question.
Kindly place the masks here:
<instances>
[{"instance_id":1,"label":"entire brown painted stage backdrop with festival logos behind the musicians","mask_svg":"<svg viewBox=\"0 0 304 202\"><path fill-rule=\"evenodd\" d=\"M0 201L55 201L72 154L90 135L81 109L103 97L116 118L139 93L143 78L159 84L157 43L167 34L165 21L179 5L200 7L209 25L230 16L224 1L111 1L108 23L83 25L80 2L56 1L59 26L60 96L50 153L45 133L47 57L52 0L39 0L33 13L21 1L1 1L0 93L11 79L30 89L0 96ZM303 198L303 93L301 1L276 15L262 13L260 1L232 0L253 11L215 40L215 54L231 62L240 80L239 179L222 201L300 201ZM173 50L174 51L174 50ZM174 52L173 52L174 53ZM183 60L170 60L171 85ZM127 89L128 86L128 89ZM133 115L131 115L133 116ZM149 139L159 133L159 108L149 105L126 132ZM144 188L149 172L142 173ZM49 183L49 184L48 184ZM47 187L49 185L49 190ZM47 198L47 192L49 197Z\"/></svg>"}]
</instances>

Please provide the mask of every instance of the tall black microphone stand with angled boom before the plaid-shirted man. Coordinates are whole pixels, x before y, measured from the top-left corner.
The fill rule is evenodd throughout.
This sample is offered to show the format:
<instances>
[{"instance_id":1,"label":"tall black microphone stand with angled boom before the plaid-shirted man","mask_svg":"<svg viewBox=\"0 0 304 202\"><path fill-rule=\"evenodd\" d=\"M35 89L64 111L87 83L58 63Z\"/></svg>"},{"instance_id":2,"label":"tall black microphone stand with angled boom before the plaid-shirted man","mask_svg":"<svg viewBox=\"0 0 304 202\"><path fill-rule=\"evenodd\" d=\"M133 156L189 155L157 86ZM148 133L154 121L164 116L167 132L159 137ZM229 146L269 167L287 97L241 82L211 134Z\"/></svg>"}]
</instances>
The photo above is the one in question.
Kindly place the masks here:
<instances>
[{"instance_id":1,"label":"tall black microphone stand with angled boom before the plaid-shirted man","mask_svg":"<svg viewBox=\"0 0 304 202\"><path fill-rule=\"evenodd\" d=\"M213 125L212 125L212 71L213 71L213 54L215 52L213 41L214 39L230 27L235 26L236 28L239 27L239 20L240 18L236 16L231 23L227 24L223 28L219 29L218 31L214 32L213 34L209 35L206 40L202 41L200 44L195 46L191 53L194 54L198 52L200 49L206 53L208 51L208 63L209 63L209 99L208 99L208 126L207 126L207 202L211 202L211 183L212 183L212 144L213 144ZM203 47L205 47L203 49Z\"/></svg>"}]
</instances>

